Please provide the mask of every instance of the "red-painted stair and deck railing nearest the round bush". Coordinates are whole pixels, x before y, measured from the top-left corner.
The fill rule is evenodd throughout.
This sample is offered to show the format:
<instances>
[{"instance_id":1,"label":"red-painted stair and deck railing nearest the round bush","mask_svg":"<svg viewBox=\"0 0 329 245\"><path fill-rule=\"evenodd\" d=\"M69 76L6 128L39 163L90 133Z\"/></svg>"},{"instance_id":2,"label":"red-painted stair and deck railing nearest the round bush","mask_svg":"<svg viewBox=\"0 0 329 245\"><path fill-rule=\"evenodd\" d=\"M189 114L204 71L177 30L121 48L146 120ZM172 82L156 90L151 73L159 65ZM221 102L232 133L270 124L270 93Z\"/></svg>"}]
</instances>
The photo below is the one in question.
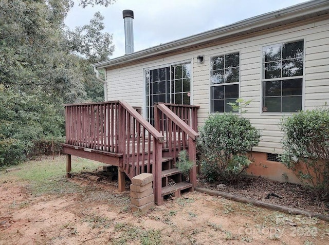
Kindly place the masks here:
<instances>
[{"instance_id":1,"label":"red-painted stair and deck railing nearest the round bush","mask_svg":"<svg viewBox=\"0 0 329 245\"><path fill-rule=\"evenodd\" d=\"M196 186L196 140L199 134L196 109L198 106L157 103L154 106L155 128L165 135L163 147L168 148L171 157L176 160L178 150L188 147L189 160L194 162L190 171L190 182ZM192 128L192 127L193 128Z\"/></svg>"}]
</instances>

